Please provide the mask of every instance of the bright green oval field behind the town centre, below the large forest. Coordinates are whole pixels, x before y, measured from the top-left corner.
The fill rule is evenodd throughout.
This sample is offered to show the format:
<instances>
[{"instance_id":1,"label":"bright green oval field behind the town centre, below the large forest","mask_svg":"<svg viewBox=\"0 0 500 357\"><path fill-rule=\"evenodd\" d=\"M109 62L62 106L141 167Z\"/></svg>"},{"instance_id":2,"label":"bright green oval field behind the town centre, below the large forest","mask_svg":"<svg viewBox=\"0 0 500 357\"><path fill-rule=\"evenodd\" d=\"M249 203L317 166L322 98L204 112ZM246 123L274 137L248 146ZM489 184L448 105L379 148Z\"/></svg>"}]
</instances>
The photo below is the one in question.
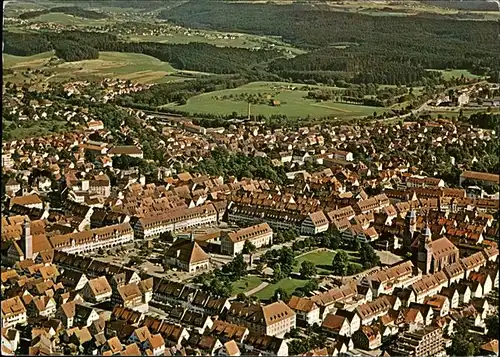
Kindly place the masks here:
<instances>
[{"instance_id":1,"label":"bright green oval field behind the town centre, below the large forest","mask_svg":"<svg viewBox=\"0 0 500 357\"><path fill-rule=\"evenodd\" d=\"M374 111L378 113L385 110L385 108L334 101L316 102L304 98L307 95L306 88L317 87L281 82L252 82L235 89L200 94L190 98L184 105L171 103L164 107L189 113L231 115L233 112L236 112L238 115L246 115L248 113L248 103L242 95L253 94L261 96L262 101L266 103L252 104L250 109L252 115L271 116L281 114L290 118L305 118L307 116L347 118L363 117L373 114ZM332 89L342 91L341 88ZM277 100L280 104L273 106L271 105L272 100Z\"/></svg>"}]
</instances>

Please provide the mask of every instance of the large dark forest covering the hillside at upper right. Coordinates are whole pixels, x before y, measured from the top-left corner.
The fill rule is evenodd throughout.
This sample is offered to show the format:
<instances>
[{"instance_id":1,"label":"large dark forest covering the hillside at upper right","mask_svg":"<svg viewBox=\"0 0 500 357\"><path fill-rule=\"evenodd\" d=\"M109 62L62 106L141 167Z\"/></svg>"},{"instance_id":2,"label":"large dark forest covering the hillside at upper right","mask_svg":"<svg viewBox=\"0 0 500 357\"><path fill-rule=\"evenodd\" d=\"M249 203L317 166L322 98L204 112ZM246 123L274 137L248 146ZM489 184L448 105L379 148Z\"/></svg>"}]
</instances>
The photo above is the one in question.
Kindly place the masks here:
<instances>
[{"instance_id":1,"label":"large dark forest covering the hillside at upper right","mask_svg":"<svg viewBox=\"0 0 500 357\"><path fill-rule=\"evenodd\" d=\"M309 5L224 3L196 0L159 15L177 24L277 35L310 52L274 61L285 77L315 71L351 73L358 83L415 83L428 68L486 73L500 68L499 24L439 16L369 16L319 11ZM279 21L276 21L279 19ZM311 26L314 24L314 26Z\"/></svg>"}]
</instances>

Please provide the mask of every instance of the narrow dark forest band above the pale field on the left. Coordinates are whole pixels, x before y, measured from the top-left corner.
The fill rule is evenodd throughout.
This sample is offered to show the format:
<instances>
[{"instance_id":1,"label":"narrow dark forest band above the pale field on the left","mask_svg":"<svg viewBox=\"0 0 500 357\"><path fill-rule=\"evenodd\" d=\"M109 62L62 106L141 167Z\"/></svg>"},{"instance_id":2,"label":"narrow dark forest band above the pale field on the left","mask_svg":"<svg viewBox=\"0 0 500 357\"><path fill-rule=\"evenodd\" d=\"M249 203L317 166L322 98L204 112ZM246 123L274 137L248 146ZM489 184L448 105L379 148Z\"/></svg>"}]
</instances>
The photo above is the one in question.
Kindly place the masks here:
<instances>
[{"instance_id":1,"label":"narrow dark forest band above the pale field on the left","mask_svg":"<svg viewBox=\"0 0 500 357\"><path fill-rule=\"evenodd\" d=\"M133 52L156 57L181 70L218 74L247 73L249 76L259 74L259 69L255 68L258 64L280 56L277 51L273 50L217 47L194 42L189 44L123 42L111 34L81 31L25 35L4 32L4 41L5 53L13 55L27 56L55 49L63 59L79 61L97 58L95 57L96 51ZM74 47L66 46L70 43L68 41L72 42ZM64 44L59 45L59 43ZM71 48L74 49L73 53L71 53ZM266 75L265 71L262 69L260 71Z\"/></svg>"}]
</instances>

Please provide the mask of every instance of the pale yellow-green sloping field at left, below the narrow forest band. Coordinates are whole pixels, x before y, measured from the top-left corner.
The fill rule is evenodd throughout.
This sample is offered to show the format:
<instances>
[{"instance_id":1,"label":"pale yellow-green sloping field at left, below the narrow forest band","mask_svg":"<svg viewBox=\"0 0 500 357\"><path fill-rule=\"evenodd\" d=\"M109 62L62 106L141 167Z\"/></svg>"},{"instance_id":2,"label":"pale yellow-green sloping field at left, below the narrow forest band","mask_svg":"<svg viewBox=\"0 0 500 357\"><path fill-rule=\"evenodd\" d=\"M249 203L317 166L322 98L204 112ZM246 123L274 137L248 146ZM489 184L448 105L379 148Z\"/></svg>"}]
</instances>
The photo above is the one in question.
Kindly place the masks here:
<instances>
[{"instance_id":1,"label":"pale yellow-green sloping field at left, below the narrow forest band","mask_svg":"<svg viewBox=\"0 0 500 357\"><path fill-rule=\"evenodd\" d=\"M40 69L50 76L41 77L45 81L59 81L68 78L98 79L100 77L120 78L139 83L161 83L184 80L175 76L175 69L167 62L137 53L100 52L99 58L78 62L49 64L53 52L35 56L20 57L3 55L4 67L15 70L14 74L4 75L6 81L23 81L27 77L22 71Z\"/></svg>"}]
</instances>

